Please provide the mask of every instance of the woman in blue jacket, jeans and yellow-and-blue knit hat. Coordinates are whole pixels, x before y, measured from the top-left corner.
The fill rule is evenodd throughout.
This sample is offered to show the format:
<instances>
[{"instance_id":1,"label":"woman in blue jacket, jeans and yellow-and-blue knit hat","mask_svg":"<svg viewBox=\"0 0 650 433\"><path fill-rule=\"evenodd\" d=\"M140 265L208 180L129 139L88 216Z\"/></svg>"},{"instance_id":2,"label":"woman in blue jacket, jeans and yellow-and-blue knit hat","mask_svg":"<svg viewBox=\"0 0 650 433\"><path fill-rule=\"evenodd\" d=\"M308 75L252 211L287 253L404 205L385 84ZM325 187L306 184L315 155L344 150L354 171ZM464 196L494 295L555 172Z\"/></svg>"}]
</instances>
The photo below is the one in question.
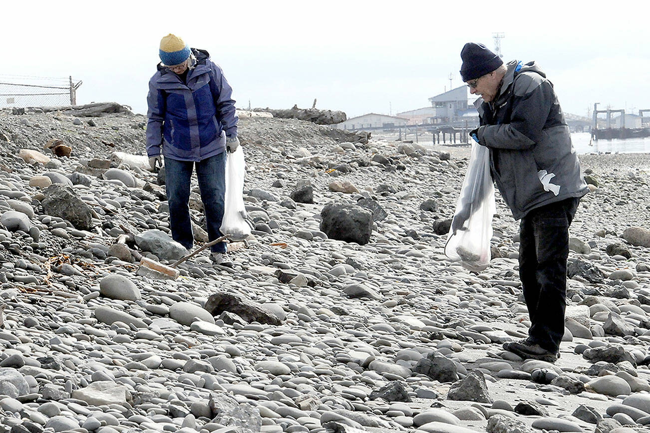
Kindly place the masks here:
<instances>
[{"instance_id":1,"label":"woman in blue jacket, jeans and yellow-and-blue knit hat","mask_svg":"<svg viewBox=\"0 0 650 433\"><path fill-rule=\"evenodd\" d=\"M207 51L190 49L181 38L168 34L159 54L162 62L149 80L147 155L154 171L164 156L172 238L191 249L192 170L196 166L207 234L214 240L224 217L226 150L233 152L239 146L238 118L232 88ZM212 247L211 258L230 264L225 242Z\"/></svg>"}]
</instances>

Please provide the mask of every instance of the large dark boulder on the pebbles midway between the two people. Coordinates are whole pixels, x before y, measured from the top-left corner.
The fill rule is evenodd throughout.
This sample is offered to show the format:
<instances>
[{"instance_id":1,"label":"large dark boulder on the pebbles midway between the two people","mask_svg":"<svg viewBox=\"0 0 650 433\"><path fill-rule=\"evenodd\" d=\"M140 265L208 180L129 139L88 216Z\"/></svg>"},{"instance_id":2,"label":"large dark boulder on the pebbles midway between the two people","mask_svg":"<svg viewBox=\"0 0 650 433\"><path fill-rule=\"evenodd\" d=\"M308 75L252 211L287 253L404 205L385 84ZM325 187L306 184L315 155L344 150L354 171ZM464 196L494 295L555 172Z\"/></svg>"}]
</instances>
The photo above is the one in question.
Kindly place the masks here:
<instances>
[{"instance_id":1,"label":"large dark boulder on the pebbles midway between the two people","mask_svg":"<svg viewBox=\"0 0 650 433\"><path fill-rule=\"evenodd\" d=\"M320 230L330 239L365 245L372 234L372 212L352 204L328 204L320 211Z\"/></svg>"}]
</instances>

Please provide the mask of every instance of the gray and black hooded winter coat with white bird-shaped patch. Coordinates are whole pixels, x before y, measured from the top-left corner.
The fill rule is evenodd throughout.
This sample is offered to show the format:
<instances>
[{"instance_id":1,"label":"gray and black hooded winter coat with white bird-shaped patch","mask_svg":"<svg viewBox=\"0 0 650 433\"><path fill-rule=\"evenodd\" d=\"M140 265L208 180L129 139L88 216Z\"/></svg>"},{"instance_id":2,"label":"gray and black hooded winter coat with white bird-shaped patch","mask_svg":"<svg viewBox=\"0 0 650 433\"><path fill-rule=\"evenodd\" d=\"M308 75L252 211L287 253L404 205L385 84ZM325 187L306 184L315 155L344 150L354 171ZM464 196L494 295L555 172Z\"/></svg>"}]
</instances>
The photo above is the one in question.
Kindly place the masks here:
<instances>
[{"instance_id":1,"label":"gray and black hooded winter coat with white bird-shaped patch","mask_svg":"<svg viewBox=\"0 0 650 433\"><path fill-rule=\"evenodd\" d=\"M507 64L499 95L479 98L478 142L489 147L490 171L515 219L589 190L571 145L562 108L535 62Z\"/></svg>"}]
</instances>

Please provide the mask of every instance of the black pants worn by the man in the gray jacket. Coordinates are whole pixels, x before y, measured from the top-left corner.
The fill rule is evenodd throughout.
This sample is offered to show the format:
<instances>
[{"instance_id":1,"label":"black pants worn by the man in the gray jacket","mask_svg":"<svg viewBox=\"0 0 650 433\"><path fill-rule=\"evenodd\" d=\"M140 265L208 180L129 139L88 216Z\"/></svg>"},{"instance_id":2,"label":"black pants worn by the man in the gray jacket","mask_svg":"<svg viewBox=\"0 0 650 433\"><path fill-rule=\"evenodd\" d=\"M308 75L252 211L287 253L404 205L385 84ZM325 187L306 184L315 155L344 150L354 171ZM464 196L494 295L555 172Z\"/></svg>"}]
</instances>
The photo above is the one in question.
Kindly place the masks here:
<instances>
[{"instance_id":1,"label":"black pants worn by the man in the gray jacket","mask_svg":"<svg viewBox=\"0 0 650 433\"><path fill-rule=\"evenodd\" d=\"M519 278L532 326L528 336L557 351L564 335L569 226L580 199L533 209L519 227Z\"/></svg>"}]
</instances>

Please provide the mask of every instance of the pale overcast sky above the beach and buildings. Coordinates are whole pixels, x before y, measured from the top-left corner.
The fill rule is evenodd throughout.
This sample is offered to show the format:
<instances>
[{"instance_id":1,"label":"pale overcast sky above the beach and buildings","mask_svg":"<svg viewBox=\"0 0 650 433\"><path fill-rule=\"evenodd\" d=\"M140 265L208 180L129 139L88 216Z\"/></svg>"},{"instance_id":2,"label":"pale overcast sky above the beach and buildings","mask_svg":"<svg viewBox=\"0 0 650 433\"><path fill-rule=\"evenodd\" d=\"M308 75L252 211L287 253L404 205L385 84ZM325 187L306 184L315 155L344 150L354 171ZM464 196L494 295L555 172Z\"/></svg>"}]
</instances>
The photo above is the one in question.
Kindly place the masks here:
<instances>
[{"instance_id":1,"label":"pale overcast sky above the beach and buildings","mask_svg":"<svg viewBox=\"0 0 650 433\"><path fill-rule=\"evenodd\" d=\"M207 49L239 108L294 104L348 118L428 106L460 86L465 42L536 60L565 112L650 108L647 1L31 1L3 5L0 74L83 80L77 103L146 113L161 37ZM3 80L8 80L3 77ZM16 78L14 80L19 80Z\"/></svg>"}]
</instances>

